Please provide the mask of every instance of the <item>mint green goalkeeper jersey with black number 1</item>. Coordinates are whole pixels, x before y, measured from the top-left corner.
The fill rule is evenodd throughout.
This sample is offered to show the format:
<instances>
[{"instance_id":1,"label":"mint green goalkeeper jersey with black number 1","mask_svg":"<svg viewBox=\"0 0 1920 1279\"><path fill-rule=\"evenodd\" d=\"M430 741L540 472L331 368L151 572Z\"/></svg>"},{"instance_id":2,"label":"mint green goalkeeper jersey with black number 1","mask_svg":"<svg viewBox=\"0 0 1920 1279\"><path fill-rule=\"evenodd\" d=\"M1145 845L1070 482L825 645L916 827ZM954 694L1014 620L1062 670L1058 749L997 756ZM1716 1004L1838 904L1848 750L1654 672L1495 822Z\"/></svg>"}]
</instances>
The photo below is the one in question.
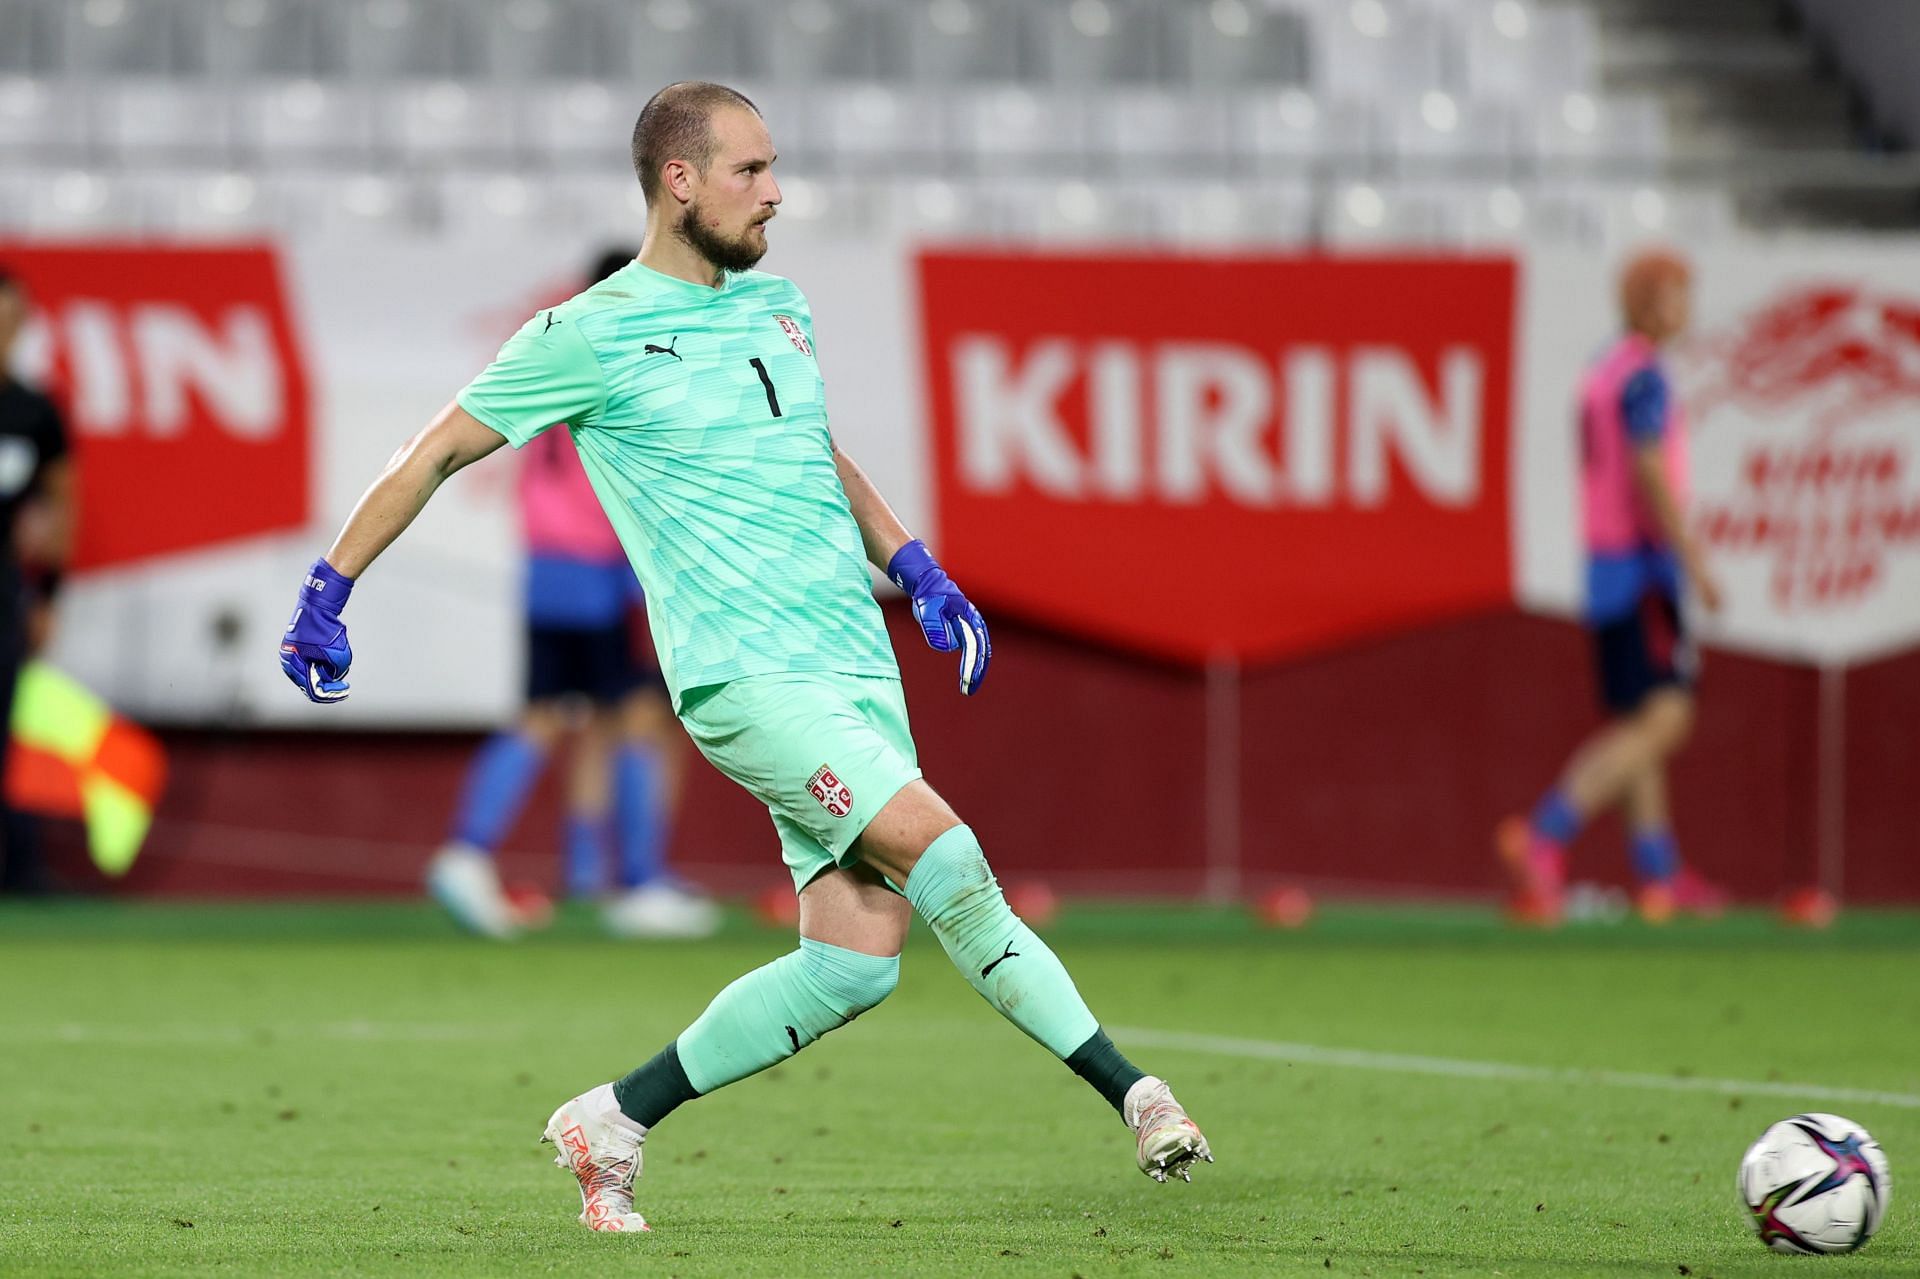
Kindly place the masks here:
<instances>
[{"instance_id":1,"label":"mint green goalkeeper jersey with black number 1","mask_svg":"<svg viewBox=\"0 0 1920 1279\"><path fill-rule=\"evenodd\" d=\"M678 709L755 674L899 678L824 390L791 280L630 263L534 315L459 405L515 447L572 428Z\"/></svg>"}]
</instances>

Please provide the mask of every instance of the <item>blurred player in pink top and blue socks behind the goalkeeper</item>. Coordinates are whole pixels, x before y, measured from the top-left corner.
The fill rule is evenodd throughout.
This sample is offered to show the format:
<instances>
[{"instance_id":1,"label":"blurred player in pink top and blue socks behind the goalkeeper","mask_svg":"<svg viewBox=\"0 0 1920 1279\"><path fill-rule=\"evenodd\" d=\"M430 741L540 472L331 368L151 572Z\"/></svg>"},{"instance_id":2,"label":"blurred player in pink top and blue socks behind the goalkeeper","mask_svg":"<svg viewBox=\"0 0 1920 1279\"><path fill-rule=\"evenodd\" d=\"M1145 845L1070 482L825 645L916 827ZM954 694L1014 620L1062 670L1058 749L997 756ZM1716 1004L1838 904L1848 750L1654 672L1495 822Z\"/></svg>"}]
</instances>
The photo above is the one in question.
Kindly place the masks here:
<instances>
[{"instance_id":1,"label":"blurred player in pink top and blue socks behind the goalkeeper","mask_svg":"<svg viewBox=\"0 0 1920 1279\"><path fill-rule=\"evenodd\" d=\"M632 261L632 252L601 253L588 284ZM620 895L603 910L609 931L707 937L720 928L718 906L674 883L662 860L680 789L680 728L659 666L641 657L634 568L566 430L528 444L516 495L528 551L526 711L474 757L426 885L465 928L488 937L518 931L493 853L555 745L576 730L566 770L566 891L599 895L612 845Z\"/></svg>"}]
</instances>

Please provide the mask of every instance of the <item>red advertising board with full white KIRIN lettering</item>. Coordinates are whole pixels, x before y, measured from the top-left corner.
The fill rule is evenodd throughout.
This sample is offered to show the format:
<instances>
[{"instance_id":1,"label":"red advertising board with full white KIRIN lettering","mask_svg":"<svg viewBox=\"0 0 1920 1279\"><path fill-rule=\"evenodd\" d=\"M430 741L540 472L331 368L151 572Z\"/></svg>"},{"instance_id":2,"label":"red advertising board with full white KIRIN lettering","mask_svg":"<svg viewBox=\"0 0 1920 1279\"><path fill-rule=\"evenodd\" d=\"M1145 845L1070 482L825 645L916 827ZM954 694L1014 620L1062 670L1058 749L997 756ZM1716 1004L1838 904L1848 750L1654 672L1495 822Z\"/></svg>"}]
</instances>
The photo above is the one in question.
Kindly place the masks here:
<instances>
[{"instance_id":1,"label":"red advertising board with full white KIRIN lettering","mask_svg":"<svg viewBox=\"0 0 1920 1279\"><path fill-rule=\"evenodd\" d=\"M941 557L993 607L1261 661L1511 603L1509 259L918 273Z\"/></svg>"}]
</instances>

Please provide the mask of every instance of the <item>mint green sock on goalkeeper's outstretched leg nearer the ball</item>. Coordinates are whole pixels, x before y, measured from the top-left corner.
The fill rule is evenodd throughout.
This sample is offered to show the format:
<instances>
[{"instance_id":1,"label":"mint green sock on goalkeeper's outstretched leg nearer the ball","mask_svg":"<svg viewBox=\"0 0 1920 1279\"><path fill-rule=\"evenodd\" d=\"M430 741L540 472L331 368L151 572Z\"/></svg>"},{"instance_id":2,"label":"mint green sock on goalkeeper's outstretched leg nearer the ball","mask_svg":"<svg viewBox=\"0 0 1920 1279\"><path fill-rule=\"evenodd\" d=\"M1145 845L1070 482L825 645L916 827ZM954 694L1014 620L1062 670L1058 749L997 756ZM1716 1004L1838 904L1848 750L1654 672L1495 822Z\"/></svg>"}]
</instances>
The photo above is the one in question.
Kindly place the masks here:
<instances>
[{"instance_id":1,"label":"mint green sock on goalkeeper's outstretched leg nearer the ball","mask_svg":"<svg viewBox=\"0 0 1920 1279\"><path fill-rule=\"evenodd\" d=\"M1068 1060L1100 1031L1068 970L1006 906L972 830L954 826L927 845L906 899L968 983L1054 1056Z\"/></svg>"}]
</instances>

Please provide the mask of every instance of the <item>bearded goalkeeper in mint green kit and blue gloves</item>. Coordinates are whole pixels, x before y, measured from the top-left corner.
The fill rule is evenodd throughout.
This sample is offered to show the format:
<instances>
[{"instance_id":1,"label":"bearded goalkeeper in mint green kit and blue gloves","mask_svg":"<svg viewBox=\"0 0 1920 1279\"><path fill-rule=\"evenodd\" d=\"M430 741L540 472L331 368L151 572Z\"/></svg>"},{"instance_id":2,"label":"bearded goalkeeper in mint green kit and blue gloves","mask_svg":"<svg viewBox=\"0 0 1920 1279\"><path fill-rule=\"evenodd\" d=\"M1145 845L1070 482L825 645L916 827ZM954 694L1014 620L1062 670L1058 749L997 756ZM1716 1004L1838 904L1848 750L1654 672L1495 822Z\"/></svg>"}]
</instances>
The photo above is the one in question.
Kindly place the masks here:
<instances>
[{"instance_id":1,"label":"bearded goalkeeper in mint green kit and blue gloves","mask_svg":"<svg viewBox=\"0 0 1920 1279\"><path fill-rule=\"evenodd\" d=\"M313 701L344 697L353 580L449 474L572 422L647 588L674 707L707 759L766 803L801 903L797 951L720 991L653 1060L553 1112L543 1135L580 1183L580 1219L647 1229L634 1212L647 1133L887 999L916 910L987 1002L1119 1112L1140 1171L1187 1175L1212 1158L1200 1129L1106 1037L1008 908L973 832L922 780L868 563L908 593L931 647L960 653L962 693L987 674L987 626L835 446L806 298L753 271L780 204L772 165L766 123L735 90L682 83L647 102L634 127L639 259L538 313L401 447L309 568L282 666ZM624 993L597 977L559 993L557 1016L605 1022ZM870 1081L889 1085L910 1097L912 1079ZM981 1100L987 1139L1025 1158L1031 1139L995 1129Z\"/></svg>"}]
</instances>

